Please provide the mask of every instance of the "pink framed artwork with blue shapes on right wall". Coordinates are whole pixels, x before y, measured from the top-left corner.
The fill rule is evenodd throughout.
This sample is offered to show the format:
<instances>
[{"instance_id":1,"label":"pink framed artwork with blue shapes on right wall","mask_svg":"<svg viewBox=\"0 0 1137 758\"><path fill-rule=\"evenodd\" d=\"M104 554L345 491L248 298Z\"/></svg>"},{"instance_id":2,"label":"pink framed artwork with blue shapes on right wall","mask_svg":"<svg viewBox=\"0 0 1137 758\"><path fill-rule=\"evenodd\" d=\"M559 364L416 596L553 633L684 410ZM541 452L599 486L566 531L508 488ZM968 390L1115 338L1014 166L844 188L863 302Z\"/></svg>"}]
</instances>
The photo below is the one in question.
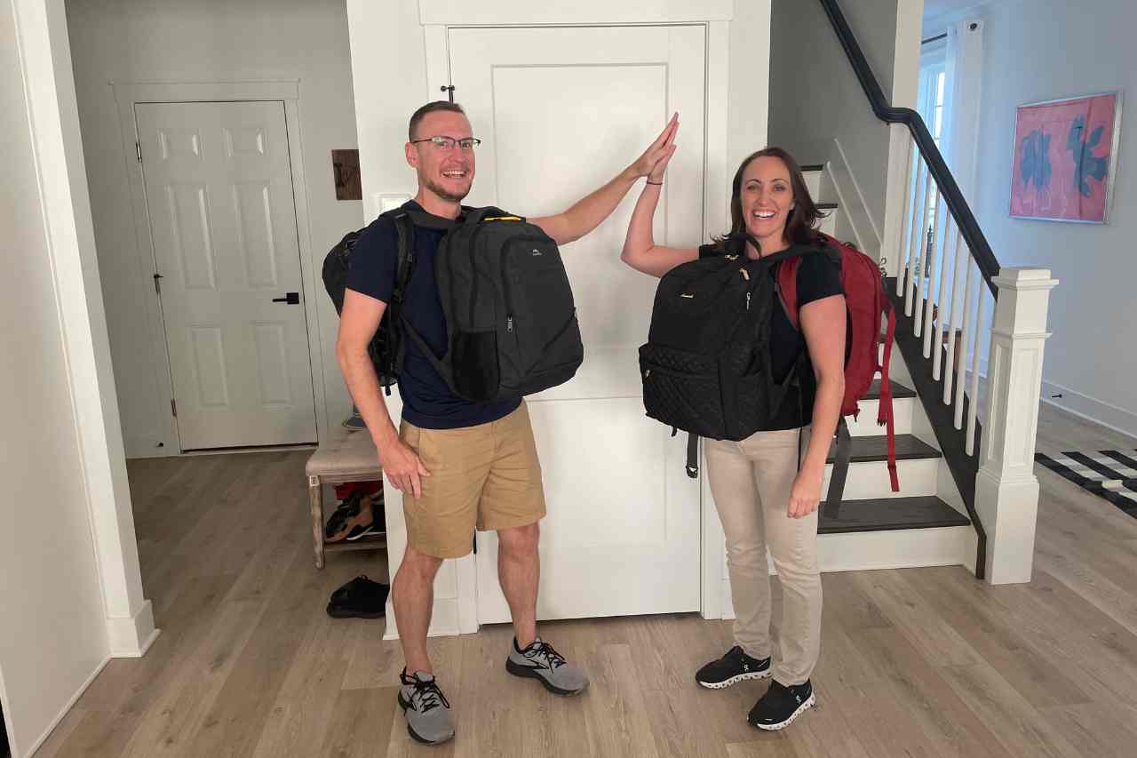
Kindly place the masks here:
<instances>
[{"instance_id":1,"label":"pink framed artwork with blue shapes on right wall","mask_svg":"<svg viewBox=\"0 0 1137 758\"><path fill-rule=\"evenodd\" d=\"M1120 92L1019 106L1011 216L1105 223L1120 126Z\"/></svg>"}]
</instances>

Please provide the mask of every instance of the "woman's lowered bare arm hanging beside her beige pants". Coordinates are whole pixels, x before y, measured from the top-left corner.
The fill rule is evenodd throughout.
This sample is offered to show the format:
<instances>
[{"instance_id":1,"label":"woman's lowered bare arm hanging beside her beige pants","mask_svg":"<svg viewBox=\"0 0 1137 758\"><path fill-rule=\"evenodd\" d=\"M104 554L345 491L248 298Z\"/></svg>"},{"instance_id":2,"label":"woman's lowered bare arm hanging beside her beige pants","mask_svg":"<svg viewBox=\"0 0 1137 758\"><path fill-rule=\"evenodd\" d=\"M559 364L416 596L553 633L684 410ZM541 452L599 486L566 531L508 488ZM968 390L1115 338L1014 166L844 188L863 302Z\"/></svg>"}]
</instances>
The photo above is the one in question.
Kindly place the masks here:
<instances>
[{"instance_id":1,"label":"woman's lowered bare arm hanging beside her beige pants","mask_svg":"<svg viewBox=\"0 0 1137 758\"><path fill-rule=\"evenodd\" d=\"M818 395L813 403L810 448L790 492L790 518L808 516L821 502L825 459L845 398L845 318L844 295L831 295L802 306L802 332L818 378Z\"/></svg>"}]
</instances>

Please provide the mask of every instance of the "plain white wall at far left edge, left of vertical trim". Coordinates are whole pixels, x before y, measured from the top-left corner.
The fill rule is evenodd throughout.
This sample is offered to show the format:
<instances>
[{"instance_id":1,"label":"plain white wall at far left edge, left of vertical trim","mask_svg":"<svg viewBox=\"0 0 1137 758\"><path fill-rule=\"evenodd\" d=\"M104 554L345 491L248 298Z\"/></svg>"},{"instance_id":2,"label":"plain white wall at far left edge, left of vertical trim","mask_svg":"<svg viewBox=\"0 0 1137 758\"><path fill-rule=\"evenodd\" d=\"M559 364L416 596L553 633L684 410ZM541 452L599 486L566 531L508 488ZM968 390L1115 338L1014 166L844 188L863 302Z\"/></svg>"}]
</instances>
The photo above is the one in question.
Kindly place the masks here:
<instances>
[{"instance_id":1,"label":"plain white wall at far left edge, left of vertical trim","mask_svg":"<svg viewBox=\"0 0 1137 758\"><path fill-rule=\"evenodd\" d=\"M0 7L0 690L26 756L109 656L14 5ZM18 360L16 360L18 357Z\"/></svg>"}]
</instances>

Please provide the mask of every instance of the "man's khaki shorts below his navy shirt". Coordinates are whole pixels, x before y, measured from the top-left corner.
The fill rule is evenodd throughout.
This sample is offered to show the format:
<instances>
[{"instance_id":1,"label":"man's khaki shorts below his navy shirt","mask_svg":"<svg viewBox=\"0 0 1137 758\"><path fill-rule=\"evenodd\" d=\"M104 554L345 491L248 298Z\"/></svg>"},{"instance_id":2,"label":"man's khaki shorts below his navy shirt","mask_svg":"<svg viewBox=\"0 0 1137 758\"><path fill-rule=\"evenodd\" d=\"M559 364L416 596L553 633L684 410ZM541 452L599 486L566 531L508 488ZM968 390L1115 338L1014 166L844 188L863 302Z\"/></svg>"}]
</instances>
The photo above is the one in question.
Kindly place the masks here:
<instances>
[{"instance_id":1,"label":"man's khaki shorts below his navy shirt","mask_svg":"<svg viewBox=\"0 0 1137 758\"><path fill-rule=\"evenodd\" d=\"M422 497L402 495L407 542L435 558L473 550L474 529L491 532L545 517L541 463L529 409L462 429L420 429L402 421L399 438L430 471Z\"/></svg>"}]
</instances>

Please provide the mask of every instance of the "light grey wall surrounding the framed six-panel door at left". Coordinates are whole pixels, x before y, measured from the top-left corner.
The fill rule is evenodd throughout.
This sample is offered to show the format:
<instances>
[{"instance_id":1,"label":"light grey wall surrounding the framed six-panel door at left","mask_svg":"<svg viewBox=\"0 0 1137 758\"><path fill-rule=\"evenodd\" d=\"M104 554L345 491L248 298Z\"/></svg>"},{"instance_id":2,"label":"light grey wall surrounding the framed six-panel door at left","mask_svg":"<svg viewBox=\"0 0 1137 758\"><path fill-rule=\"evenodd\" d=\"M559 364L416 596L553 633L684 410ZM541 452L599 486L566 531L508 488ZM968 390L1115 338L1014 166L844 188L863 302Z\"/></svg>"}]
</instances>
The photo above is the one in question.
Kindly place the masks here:
<instances>
[{"instance_id":1,"label":"light grey wall surrounding the framed six-panel door at left","mask_svg":"<svg viewBox=\"0 0 1137 758\"><path fill-rule=\"evenodd\" d=\"M159 396L157 372L167 369L149 348L146 315L153 266L134 236L109 82L299 80L315 257L304 273L318 275L324 254L363 219L362 204L338 201L332 183L331 150L357 146L345 0L68 0L67 18L127 454L176 452L161 434L169 398ZM339 321L316 285L323 339L313 379L324 382L335 423L350 401L332 349Z\"/></svg>"}]
</instances>

